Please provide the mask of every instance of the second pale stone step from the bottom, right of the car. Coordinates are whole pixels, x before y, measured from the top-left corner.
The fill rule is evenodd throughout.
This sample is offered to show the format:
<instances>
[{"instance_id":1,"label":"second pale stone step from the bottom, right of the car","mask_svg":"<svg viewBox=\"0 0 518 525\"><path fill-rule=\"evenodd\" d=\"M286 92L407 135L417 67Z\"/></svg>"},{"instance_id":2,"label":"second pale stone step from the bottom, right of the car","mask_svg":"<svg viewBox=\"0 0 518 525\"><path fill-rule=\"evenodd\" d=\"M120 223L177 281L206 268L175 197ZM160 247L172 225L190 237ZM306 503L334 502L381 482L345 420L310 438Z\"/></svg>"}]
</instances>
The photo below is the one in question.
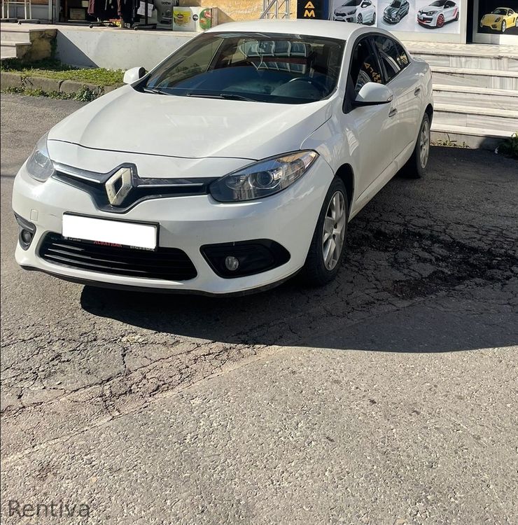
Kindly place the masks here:
<instances>
[{"instance_id":1,"label":"second pale stone step from the bottom, right of the car","mask_svg":"<svg viewBox=\"0 0 518 525\"><path fill-rule=\"evenodd\" d=\"M435 104L433 109L433 121L437 124L518 131L518 111L456 104Z\"/></svg>"}]
</instances>

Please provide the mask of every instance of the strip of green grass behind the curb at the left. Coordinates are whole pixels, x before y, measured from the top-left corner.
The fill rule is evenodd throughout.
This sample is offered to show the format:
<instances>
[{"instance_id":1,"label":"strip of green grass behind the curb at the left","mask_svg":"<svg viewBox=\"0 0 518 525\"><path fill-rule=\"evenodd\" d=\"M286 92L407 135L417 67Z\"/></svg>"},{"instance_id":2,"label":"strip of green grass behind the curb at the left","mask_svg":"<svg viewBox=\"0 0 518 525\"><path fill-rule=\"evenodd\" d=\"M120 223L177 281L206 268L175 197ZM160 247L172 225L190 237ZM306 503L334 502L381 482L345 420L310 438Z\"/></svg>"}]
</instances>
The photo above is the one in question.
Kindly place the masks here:
<instances>
[{"instance_id":1,"label":"strip of green grass behind the curb at the left","mask_svg":"<svg viewBox=\"0 0 518 525\"><path fill-rule=\"evenodd\" d=\"M123 83L122 69L77 68L62 64L56 59L43 59L27 64L20 59L2 60L1 71L20 73L23 77L43 76L55 80L76 80L87 84L118 85Z\"/></svg>"}]
</instances>

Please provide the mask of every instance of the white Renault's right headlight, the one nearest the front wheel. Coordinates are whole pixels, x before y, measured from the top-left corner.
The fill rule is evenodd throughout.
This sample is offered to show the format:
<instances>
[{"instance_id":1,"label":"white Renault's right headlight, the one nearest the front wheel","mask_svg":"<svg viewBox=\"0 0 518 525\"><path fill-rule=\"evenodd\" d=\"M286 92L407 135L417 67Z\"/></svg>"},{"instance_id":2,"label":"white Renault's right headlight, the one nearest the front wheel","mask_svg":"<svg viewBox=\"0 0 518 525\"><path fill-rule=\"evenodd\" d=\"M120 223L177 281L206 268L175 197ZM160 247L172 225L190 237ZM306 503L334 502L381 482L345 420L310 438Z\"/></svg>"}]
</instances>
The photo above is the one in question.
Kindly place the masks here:
<instances>
[{"instance_id":1,"label":"white Renault's right headlight, the one nearest the front wheel","mask_svg":"<svg viewBox=\"0 0 518 525\"><path fill-rule=\"evenodd\" d=\"M300 179L318 157L316 151L298 151L260 160L221 177L210 186L219 202L259 199L274 195Z\"/></svg>"}]
</instances>

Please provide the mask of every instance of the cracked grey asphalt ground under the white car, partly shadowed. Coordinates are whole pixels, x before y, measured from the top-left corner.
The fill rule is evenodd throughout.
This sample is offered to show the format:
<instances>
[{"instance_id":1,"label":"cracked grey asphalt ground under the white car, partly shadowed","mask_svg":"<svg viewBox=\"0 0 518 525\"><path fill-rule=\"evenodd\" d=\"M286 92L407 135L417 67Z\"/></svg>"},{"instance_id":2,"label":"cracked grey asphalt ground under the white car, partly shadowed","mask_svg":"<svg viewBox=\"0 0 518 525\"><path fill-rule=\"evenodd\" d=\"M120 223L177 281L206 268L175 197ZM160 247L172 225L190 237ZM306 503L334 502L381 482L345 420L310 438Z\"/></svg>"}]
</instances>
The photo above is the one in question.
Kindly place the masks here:
<instances>
[{"instance_id":1,"label":"cracked grey asphalt ground under the white car, partly shadowed","mask_svg":"<svg viewBox=\"0 0 518 525\"><path fill-rule=\"evenodd\" d=\"M325 288L97 290L13 260L15 172L79 106L1 95L2 524L518 522L518 162L433 148Z\"/></svg>"}]
</instances>

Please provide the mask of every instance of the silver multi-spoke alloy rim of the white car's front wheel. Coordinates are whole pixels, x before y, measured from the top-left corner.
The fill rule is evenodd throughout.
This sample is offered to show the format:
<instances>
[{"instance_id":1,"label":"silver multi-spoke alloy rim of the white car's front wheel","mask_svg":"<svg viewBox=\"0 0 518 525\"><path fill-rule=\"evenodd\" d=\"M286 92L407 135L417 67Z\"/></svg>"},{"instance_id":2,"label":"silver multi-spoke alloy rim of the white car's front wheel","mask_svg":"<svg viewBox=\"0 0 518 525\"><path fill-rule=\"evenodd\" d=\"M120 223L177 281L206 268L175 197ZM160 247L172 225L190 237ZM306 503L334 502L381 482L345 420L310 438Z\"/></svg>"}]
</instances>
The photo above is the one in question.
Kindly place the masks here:
<instances>
[{"instance_id":1,"label":"silver multi-spoke alloy rim of the white car's front wheel","mask_svg":"<svg viewBox=\"0 0 518 525\"><path fill-rule=\"evenodd\" d=\"M336 191L325 212L322 236L322 255L325 268L332 270L337 265L344 246L346 209L344 194Z\"/></svg>"}]
</instances>

